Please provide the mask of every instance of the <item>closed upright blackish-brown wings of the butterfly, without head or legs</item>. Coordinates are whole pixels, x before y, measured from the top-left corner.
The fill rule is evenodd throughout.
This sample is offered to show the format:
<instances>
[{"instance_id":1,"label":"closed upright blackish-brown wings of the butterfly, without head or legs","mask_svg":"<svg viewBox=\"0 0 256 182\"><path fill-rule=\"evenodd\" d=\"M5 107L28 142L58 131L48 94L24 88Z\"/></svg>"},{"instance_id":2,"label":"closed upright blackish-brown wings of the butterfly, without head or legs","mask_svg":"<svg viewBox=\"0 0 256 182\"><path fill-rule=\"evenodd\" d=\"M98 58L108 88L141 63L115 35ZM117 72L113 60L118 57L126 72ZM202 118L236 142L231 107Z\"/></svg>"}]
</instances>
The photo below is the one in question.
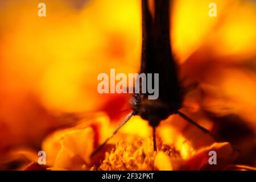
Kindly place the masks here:
<instances>
[{"instance_id":1,"label":"closed upright blackish-brown wings of the butterfly, without head or legs","mask_svg":"<svg viewBox=\"0 0 256 182\"><path fill-rule=\"evenodd\" d=\"M141 73L159 73L160 102L180 109L183 89L177 76L177 65L170 44L170 1L155 0L154 17L148 1L142 0L142 59Z\"/></svg>"}]
</instances>

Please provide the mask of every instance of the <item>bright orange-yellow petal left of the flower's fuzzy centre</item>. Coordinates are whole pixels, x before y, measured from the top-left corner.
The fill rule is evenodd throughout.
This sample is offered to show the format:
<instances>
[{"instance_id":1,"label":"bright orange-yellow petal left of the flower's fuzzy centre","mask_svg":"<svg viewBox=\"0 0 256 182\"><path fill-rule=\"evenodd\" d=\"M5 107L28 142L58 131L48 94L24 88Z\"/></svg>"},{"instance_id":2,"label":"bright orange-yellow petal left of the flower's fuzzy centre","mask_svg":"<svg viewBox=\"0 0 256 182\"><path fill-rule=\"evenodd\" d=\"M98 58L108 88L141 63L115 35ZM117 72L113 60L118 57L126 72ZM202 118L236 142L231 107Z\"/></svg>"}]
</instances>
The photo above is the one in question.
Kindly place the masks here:
<instances>
[{"instance_id":1,"label":"bright orange-yellow petal left of the flower's fuzzy centre","mask_svg":"<svg viewBox=\"0 0 256 182\"><path fill-rule=\"evenodd\" d=\"M94 121L94 122L92 122ZM55 131L44 139L49 169L86 170L91 166L90 154L104 139L109 118L102 113L98 117L79 122L75 127ZM105 134L106 135L106 134Z\"/></svg>"}]
</instances>

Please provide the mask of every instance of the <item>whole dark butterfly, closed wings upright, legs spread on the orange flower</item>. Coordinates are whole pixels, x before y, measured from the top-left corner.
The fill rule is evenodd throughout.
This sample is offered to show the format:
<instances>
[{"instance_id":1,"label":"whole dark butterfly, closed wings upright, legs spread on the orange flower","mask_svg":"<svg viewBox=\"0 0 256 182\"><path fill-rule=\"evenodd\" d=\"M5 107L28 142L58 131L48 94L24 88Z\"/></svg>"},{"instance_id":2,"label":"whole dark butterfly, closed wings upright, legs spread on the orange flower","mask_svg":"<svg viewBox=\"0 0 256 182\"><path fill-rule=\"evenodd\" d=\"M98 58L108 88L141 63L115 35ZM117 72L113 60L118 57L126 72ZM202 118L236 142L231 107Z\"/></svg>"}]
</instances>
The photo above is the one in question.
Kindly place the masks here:
<instances>
[{"instance_id":1,"label":"whole dark butterfly, closed wings upright, legs spread on the orange flower","mask_svg":"<svg viewBox=\"0 0 256 182\"><path fill-rule=\"evenodd\" d=\"M159 97L156 100L148 100L148 93L134 94L131 100L133 111L91 156L100 151L133 115L141 116L152 126L155 151L157 150L155 128L162 120L167 119L172 114L179 114L180 117L218 140L209 130L179 111L183 104L185 92L180 84L177 71L170 44L170 1L154 0L153 17L148 0L142 0L141 73L159 74Z\"/></svg>"}]
</instances>

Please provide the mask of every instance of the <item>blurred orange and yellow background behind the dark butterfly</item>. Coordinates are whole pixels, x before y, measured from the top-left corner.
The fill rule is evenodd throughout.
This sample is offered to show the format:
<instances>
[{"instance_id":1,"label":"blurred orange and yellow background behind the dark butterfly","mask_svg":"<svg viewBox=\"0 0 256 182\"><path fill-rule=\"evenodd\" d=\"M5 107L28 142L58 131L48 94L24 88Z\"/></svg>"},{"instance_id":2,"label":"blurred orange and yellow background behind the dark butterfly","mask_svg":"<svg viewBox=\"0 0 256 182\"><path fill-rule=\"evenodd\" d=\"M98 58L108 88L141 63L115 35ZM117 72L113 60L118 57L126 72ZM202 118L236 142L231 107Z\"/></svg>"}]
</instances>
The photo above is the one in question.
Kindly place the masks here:
<instances>
[{"instance_id":1,"label":"blurred orange and yellow background behind the dark butterfly","mask_svg":"<svg viewBox=\"0 0 256 182\"><path fill-rule=\"evenodd\" d=\"M46 17L37 14L40 2ZM217 17L208 15L211 2ZM112 118L128 108L129 96L97 93L97 75L139 71L141 1L1 0L0 17L0 164L13 148L40 148L47 134L69 124L62 113L105 111ZM171 42L180 77L200 83L185 111L205 126L212 121L202 110L235 114L256 134L255 22L255 1L174 1ZM150 135L139 118L124 130L138 125ZM185 128L179 119L170 125ZM175 131L167 130L163 138L171 140Z\"/></svg>"}]
</instances>

